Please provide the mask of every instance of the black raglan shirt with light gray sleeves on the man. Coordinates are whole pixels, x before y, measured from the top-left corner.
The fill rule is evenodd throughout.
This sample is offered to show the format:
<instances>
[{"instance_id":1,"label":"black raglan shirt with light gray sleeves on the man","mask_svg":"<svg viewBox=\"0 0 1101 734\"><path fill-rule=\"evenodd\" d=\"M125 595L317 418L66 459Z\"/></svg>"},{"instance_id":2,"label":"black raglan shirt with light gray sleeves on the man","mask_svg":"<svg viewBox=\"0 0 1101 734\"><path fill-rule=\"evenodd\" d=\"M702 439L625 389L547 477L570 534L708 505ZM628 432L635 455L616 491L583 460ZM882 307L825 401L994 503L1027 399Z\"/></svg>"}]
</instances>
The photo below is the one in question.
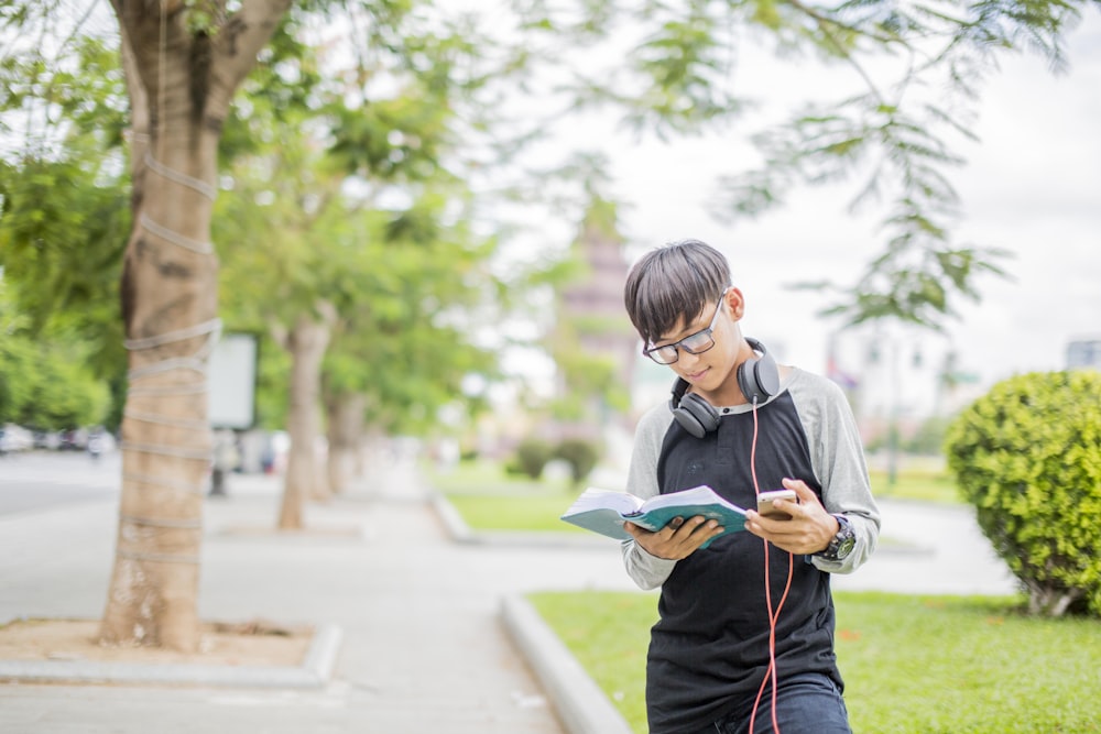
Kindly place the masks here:
<instances>
[{"instance_id":1,"label":"black raglan shirt with light gray sleeves on the man","mask_svg":"<svg viewBox=\"0 0 1101 734\"><path fill-rule=\"evenodd\" d=\"M802 479L827 512L844 514L855 547L841 561L792 559L792 585L775 637L781 679L785 671L820 671L841 687L829 574L863 563L880 527L844 394L825 377L792 369L780 393L755 413L751 405L718 410L718 429L704 438L685 431L667 404L647 412L636 429L628 490L647 499L707 484L741 507L754 507L752 453L760 491L782 489L784 478ZM716 538L679 561L624 541L624 563L635 583L662 588L646 661L651 734L702 730L756 697L768 667L765 556L764 541L746 532ZM787 552L768 546L774 610L784 595L788 559Z\"/></svg>"}]
</instances>

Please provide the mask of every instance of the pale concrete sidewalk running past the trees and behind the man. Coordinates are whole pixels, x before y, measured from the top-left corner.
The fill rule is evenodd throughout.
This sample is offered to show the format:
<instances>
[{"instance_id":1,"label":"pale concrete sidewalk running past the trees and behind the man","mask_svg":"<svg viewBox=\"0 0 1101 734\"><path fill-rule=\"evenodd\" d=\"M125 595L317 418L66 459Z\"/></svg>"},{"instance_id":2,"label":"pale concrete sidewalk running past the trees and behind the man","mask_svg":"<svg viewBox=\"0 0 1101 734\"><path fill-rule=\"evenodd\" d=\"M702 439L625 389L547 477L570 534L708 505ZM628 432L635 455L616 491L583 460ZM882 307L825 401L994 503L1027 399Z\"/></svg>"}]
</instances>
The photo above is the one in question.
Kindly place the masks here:
<instances>
[{"instance_id":1,"label":"pale concrete sidewalk running past the trees and behind the man","mask_svg":"<svg viewBox=\"0 0 1101 734\"><path fill-rule=\"evenodd\" d=\"M516 600L535 590L634 590L615 544L456 543L407 464L372 476L309 505L308 530L297 535L271 532L279 478L235 475L227 499L206 503L201 617L339 628L324 686L18 682L0 687L0 731L612 734L617 723L601 717L607 701ZM1013 590L968 511L887 501L883 511L884 535L902 543L837 588ZM97 500L0 518L0 621L101 615L116 512Z\"/></svg>"}]
</instances>

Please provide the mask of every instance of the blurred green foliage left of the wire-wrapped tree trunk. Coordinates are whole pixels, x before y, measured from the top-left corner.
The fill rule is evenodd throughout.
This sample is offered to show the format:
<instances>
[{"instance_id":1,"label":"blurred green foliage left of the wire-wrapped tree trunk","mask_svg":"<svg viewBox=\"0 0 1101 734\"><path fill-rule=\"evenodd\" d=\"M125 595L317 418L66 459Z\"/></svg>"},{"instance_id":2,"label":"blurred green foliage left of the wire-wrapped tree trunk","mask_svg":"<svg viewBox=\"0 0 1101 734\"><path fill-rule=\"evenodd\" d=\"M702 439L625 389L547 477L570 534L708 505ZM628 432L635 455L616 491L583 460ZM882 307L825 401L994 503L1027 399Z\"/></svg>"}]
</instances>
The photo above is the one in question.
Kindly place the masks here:
<instances>
[{"instance_id":1,"label":"blurred green foliage left of the wire-wrapped tree trunk","mask_svg":"<svg viewBox=\"0 0 1101 734\"><path fill-rule=\"evenodd\" d=\"M0 65L0 121L8 122L9 142L0 149L0 278L4 307L25 317L19 333L42 342L46 362L52 364L48 353L57 355L55 377L79 383L68 394L56 381L40 392L33 425L54 426L56 419L46 416L56 413L57 419L68 416L56 427L107 421L117 428L121 396L108 414L98 403L74 409L69 401L86 394L89 380L120 386L126 373L118 305L118 266L130 227L120 165L126 87L109 43L81 36L73 46L79 70L19 63L19 54ZM74 359L79 374L64 364ZM31 376L42 379L39 372Z\"/></svg>"}]
</instances>

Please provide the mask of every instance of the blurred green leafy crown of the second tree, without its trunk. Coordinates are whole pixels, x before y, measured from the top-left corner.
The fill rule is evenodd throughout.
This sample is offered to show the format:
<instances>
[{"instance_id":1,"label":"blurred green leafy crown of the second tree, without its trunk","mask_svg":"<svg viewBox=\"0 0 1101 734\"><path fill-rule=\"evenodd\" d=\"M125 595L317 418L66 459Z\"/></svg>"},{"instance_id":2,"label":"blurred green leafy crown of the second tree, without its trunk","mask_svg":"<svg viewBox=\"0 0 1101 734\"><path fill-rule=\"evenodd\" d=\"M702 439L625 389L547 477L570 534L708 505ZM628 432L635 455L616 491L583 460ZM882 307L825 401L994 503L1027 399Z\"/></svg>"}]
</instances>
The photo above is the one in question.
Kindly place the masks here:
<instances>
[{"instance_id":1,"label":"blurred green leafy crown of the second tree, without its trunk","mask_svg":"<svg viewBox=\"0 0 1101 734\"><path fill-rule=\"evenodd\" d=\"M472 233L469 191L438 166L454 143L446 99L413 85L346 105L344 91L309 92L331 130L297 124L308 109L250 113L264 94L239 103L255 134L217 202L221 303L231 325L279 333L325 298L337 311L327 399L364 395L378 428L421 432L467 374L495 373L472 343L481 310L495 308L495 241ZM283 171L294 175L272 176Z\"/></svg>"}]
</instances>

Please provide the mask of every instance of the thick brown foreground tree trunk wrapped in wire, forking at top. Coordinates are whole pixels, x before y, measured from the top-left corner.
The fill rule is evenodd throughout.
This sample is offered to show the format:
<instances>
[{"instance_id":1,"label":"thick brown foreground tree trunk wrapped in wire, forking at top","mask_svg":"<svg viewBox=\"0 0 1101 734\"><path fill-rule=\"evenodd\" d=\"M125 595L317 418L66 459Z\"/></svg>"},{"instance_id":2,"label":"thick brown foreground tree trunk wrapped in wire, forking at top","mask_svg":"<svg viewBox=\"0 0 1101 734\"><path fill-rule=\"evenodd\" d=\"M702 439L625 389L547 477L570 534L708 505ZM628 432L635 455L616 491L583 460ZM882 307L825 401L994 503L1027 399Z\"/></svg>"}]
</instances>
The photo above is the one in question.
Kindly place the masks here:
<instances>
[{"instance_id":1,"label":"thick brown foreground tree trunk wrapped in wire, forking at top","mask_svg":"<svg viewBox=\"0 0 1101 734\"><path fill-rule=\"evenodd\" d=\"M233 32L222 29L217 41L189 33L179 0L111 3L130 90L134 194L121 288L130 351L122 494L100 626L107 644L198 646L206 364L220 329L209 243L218 140L233 90L288 2L246 0Z\"/></svg>"}]
</instances>

